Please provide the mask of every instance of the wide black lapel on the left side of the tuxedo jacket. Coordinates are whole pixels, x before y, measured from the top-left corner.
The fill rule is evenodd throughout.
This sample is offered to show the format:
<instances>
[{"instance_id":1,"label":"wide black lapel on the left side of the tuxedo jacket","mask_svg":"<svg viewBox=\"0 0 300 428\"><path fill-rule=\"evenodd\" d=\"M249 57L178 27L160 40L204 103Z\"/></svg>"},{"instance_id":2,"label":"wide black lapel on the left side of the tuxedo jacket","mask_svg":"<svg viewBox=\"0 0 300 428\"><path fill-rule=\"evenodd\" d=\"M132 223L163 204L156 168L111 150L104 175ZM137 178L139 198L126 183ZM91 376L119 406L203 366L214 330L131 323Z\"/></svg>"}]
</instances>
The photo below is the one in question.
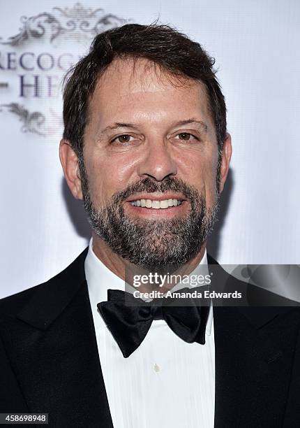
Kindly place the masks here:
<instances>
[{"instance_id":1,"label":"wide black lapel on the left side of the tuxedo jacket","mask_svg":"<svg viewBox=\"0 0 300 428\"><path fill-rule=\"evenodd\" d=\"M30 411L50 413L51 426L110 428L84 259L37 287L1 335Z\"/></svg>"}]
</instances>

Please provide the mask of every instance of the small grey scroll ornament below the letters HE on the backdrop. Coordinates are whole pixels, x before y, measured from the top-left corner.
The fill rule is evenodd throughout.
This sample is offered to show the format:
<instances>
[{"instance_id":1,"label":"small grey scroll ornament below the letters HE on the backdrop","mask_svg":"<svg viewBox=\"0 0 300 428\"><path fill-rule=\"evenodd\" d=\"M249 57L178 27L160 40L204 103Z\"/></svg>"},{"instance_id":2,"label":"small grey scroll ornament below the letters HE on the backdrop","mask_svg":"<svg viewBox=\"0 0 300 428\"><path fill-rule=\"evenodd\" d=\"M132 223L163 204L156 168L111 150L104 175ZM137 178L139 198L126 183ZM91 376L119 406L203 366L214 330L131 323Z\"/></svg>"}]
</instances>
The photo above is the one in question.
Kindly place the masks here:
<instances>
[{"instance_id":1,"label":"small grey scroll ornament below the letters HE on the backdrop","mask_svg":"<svg viewBox=\"0 0 300 428\"><path fill-rule=\"evenodd\" d=\"M20 121L23 122L21 127L22 132L33 132L33 134L45 136L45 131L43 131L45 116L42 113L38 111L33 111L33 113L30 113L29 110L22 106L22 104L17 103L2 104L0 108L3 107L7 108L11 113L17 115Z\"/></svg>"}]
</instances>

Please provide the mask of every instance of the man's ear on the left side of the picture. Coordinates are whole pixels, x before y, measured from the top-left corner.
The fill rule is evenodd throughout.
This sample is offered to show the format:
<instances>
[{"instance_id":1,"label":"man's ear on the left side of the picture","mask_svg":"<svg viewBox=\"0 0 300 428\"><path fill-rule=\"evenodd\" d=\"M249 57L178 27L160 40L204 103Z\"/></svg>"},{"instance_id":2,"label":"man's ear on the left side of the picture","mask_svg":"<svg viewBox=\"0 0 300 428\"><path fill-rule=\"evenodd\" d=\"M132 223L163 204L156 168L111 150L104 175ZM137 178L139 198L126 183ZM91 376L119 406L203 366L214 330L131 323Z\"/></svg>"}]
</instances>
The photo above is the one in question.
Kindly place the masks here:
<instances>
[{"instance_id":1,"label":"man's ear on the left side of the picture","mask_svg":"<svg viewBox=\"0 0 300 428\"><path fill-rule=\"evenodd\" d=\"M70 145L70 141L65 140L64 138L59 144L59 159L61 159L63 173L73 197L76 199L82 199L78 157Z\"/></svg>"}]
</instances>

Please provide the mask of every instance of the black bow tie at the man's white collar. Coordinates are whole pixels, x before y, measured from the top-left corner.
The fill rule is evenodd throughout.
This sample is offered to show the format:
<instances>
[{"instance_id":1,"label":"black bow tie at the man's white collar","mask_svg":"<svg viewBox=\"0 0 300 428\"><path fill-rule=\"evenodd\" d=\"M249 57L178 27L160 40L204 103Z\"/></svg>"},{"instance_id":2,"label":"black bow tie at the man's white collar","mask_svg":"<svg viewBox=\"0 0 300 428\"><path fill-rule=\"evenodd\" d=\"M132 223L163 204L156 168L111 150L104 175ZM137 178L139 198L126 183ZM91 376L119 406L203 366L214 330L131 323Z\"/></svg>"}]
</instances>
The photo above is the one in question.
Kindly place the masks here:
<instances>
[{"instance_id":1,"label":"black bow tie at the man's white collar","mask_svg":"<svg viewBox=\"0 0 300 428\"><path fill-rule=\"evenodd\" d=\"M179 291L182 293L195 290L197 291L185 288ZM172 297L153 299L147 303L121 290L107 290L107 299L108 301L97 306L125 358L140 346L153 320L165 320L183 341L202 345L205 343L209 315L207 300L206 304L201 306L199 300L191 298L184 301L180 299L180 306L174 306Z\"/></svg>"}]
</instances>

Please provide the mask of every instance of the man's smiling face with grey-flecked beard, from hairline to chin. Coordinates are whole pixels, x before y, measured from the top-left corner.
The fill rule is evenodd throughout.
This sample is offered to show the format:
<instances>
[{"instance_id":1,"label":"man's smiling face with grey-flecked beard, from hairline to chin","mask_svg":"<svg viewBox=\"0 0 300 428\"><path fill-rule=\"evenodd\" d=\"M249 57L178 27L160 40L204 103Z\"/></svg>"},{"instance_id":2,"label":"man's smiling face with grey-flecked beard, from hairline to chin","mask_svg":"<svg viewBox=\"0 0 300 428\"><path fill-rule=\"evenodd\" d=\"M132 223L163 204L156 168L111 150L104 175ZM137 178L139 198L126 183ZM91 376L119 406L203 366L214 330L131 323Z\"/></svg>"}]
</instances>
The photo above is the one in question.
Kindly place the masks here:
<instances>
[{"instance_id":1,"label":"man's smiling face with grey-flecked beard, from hairline to chin","mask_svg":"<svg viewBox=\"0 0 300 428\"><path fill-rule=\"evenodd\" d=\"M114 252L142 266L187 262L216 217L217 167L200 83L146 60L110 65L89 103L81 176L93 230Z\"/></svg>"}]
</instances>

